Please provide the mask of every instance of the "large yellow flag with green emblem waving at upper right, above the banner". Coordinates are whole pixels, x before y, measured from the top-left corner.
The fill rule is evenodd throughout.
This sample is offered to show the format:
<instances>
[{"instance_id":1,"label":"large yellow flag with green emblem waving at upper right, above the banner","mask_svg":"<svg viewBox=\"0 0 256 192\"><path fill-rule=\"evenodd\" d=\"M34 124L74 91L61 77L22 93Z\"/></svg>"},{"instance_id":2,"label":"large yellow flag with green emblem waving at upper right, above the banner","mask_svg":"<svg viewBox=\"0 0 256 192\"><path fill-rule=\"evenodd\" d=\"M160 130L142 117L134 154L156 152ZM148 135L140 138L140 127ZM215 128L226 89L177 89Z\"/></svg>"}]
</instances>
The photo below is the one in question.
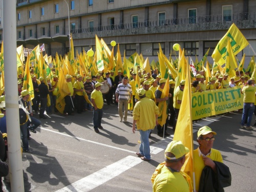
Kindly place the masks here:
<instances>
[{"instance_id":1,"label":"large yellow flag with green emblem waving at upper right, above the banner","mask_svg":"<svg viewBox=\"0 0 256 192\"><path fill-rule=\"evenodd\" d=\"M249 45L248 41L238 29L238 27L232 24L228 32L218 42L214 52L211 55L214 61L218 62L221 66L225 63L226 60L225 56L228 41L230 41L231 50L234 55L237 55L240 51Z\"/></svg>"}]
</instances>

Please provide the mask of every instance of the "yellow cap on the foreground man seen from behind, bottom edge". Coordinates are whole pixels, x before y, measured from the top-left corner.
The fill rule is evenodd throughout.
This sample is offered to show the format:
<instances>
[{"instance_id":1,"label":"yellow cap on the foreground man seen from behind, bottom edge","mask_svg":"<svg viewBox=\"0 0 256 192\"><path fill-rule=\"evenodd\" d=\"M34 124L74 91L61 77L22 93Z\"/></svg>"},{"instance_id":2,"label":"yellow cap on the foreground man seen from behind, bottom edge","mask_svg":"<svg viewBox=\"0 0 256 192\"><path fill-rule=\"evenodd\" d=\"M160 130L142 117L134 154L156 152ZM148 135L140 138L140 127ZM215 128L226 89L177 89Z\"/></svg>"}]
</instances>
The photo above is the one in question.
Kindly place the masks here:
<instances>
[{"instance_id":1,"label":"yellow cap on the foreground man seen from behind, bottom edge","mask_svg":"<svg viewBox=\"0 0 256 192\"><path fill-rule=\"evenodd\" d=\"M187 154L189 152L189 149L187 147L185 147L181 141L172 141L170 142L167 147L166 147L166 150L165 150L165 153L164 153L164 157L166 159L169 159L169 160L175 160L175 159L179 159L181 158L182 156L184 156L185 154ZM175 157L168 157L166 155L166 153L172 153L175 155Z\"/></svg>"}]
</instances>

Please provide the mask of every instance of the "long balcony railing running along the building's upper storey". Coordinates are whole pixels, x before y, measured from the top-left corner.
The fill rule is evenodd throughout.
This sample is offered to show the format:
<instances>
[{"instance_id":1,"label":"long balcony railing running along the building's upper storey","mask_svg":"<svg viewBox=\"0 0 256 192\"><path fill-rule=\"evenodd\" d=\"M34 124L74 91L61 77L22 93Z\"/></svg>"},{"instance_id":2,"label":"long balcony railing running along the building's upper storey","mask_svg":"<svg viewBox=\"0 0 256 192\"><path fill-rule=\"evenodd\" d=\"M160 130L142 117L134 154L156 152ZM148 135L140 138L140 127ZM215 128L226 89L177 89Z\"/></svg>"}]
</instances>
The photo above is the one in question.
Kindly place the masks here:
<instances>
[{"instance_id":1,"label":"long balcony railing running along the building's upper storey","mask_svg":"<svg viewBox=\"0 0 256 192\"><path fill-rule=\"evenodd\" d=\"M119 29L145 28L169 25L183 25L183 24L201 24L201 23L218 23L218 22L236 22L241 20L255 20L256 12L250 13L236 13L230 15L209 15L185 18L172 18L163 20L153 20L136 23L116 24L108 26L98 26L89 28L72 29L71 33L89 33L97 31L110 31Z\"/></svg>"}]
</instances>

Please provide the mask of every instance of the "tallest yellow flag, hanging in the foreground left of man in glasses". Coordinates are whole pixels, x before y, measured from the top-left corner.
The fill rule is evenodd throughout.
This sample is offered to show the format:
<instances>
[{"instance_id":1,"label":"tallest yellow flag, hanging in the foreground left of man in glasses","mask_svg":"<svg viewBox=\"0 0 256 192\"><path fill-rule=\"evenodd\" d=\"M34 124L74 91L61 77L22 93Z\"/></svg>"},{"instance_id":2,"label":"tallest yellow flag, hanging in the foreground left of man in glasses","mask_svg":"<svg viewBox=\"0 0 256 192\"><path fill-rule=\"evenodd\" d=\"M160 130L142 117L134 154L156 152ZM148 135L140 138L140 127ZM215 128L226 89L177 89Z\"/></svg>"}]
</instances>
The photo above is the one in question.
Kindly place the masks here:
<instances>
[{"instance_id":1,"label":"tallest yellow flag, hanging in the foreground left of man in glasses","mask_svg":"<svg viewBox=\"0 0 256 192\"><path fill-rule=\"evenodd\" d=\"M177 120L177 125L174 133L174 140L181 141L183 145L189 148L189 153L186 154L186 161L181 170L186 172L193 180L194 171L194 144L193 144L193 126L192 126L192 110L191 110L191 81L190 73L187 65L186 81L183 90L183 97L180 106L180 112Z\"/></svg>"}]
</instances>

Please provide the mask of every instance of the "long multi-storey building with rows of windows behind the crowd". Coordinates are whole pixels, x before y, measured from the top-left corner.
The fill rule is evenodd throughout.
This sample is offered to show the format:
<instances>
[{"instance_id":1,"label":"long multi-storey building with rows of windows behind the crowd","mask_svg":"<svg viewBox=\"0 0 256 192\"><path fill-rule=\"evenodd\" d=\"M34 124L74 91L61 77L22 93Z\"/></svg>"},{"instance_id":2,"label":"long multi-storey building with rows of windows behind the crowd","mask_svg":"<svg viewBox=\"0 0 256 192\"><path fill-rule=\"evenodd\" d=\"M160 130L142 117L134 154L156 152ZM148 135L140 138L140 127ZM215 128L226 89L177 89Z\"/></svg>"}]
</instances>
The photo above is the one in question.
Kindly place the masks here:
<instances>
[{"instance_id":1,"label":"long multi-storey building with rows of windows behind the crowd","mask_svg":"<svg viewBox=\"0 0 256 192\"><path fill-rule=\"evenodd\" d=\"M0 37L3 39L3 0L0 0ZM69 27L75 50L95 49L95 34L121 54L134 52L157 59L159 43L165 55L179 43L186 56L201 58L235 23L256 50L255 0L17 0L17 46L33 48L45 43L48 55L69 50ZM68 18L70 13L70 22ZM111 47L111 46L110 46ZM247 46L238 54L253 56ZM246 65L246 64L245 64Z\"/></svg>"}]
</instances>

